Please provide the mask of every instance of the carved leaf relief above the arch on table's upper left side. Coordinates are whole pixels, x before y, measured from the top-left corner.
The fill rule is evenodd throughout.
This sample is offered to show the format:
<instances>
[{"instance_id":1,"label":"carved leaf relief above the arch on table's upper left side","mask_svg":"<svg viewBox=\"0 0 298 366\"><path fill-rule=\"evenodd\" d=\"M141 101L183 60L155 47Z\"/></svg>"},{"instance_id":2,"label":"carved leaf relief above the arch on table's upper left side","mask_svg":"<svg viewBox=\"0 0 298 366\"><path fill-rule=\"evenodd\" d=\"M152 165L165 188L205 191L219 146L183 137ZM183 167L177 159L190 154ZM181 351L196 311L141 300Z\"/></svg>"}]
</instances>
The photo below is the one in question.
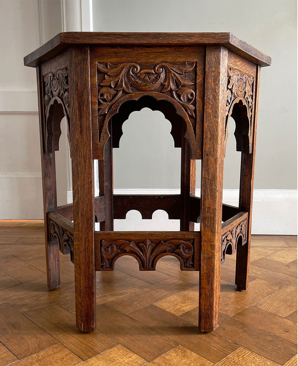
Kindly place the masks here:
<instances>
[{"instance_id":1,"label":"carved leaf relief above the arch on table's upper left side","mask_svg":"<svg viewBox=\"0 0 298 366\"><path fill-rule=\"evenodd\" d=\"M68 69L64 67L63 69L57 70L55 73L49 72L44 75L45 83L45 97L44 97L44 107L45 112L49 102L54 97L59 97L63 101L64 107L69 116L69 94L68 94Z\"/></svg>"}]
</instances>

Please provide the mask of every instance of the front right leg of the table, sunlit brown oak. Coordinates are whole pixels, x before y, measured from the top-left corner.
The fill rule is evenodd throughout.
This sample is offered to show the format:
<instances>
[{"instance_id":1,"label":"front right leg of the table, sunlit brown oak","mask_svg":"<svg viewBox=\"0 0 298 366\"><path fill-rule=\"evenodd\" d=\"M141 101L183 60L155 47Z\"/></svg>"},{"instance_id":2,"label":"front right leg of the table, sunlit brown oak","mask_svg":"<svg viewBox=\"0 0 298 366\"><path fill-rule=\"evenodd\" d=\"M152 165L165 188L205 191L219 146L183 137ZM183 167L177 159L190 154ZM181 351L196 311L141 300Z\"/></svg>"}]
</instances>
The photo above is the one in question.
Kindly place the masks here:
<instances>
[{"instance_id":1,"label":"front right leg of the table, sunlit brown oak","mask_svg":"<svg viewBox=\"0 0 298 366\"><path fill-rule=\"evenodd\" d=\"M211 332L219 325L227 56L224 47L206 47L199 282L199 326L202 332Z\"/></svg>"}]
</instances>

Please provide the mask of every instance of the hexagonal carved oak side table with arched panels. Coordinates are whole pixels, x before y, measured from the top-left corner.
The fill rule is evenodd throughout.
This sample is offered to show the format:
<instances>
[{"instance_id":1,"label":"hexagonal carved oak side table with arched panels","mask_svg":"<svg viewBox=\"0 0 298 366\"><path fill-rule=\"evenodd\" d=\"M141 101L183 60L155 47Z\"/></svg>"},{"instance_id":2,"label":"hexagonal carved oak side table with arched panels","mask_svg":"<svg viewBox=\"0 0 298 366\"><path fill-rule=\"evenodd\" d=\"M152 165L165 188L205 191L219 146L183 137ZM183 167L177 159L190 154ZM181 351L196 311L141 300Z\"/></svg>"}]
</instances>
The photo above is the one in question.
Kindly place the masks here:
<instances>
[{"instance_id":1,"label":"hexagonal carved oak side table with arched panels","mask_svg":"<svg viewBox=\"0 0 298 366\"><path fill-rule=\"evenodd\" d=\"M270 63L231 33L60 33L25 57L24 64L37 69L48 287L60 284L60 249L74 262L81 331L96 329L96 271L113 270L122 255L134 257L140 270L154 270L161 257L172 255L181 270L200 271L203 332L219 324L226 254L236 251L235 283L247 288L260 67ZM113 194L113 148L129 114L144 107L161 111L172 124L182 156L179 195ZM64 116L73 204L57 207L55 151ZM239 207L222 204L230 116L241 151ZM195 197L196 159L202 160L201 198ZM113 231L113 220L132 209L144 219L165 210L180 220L180 231ZM194 231L197 222L200 231Z\"/></svg>"}]
</instances>

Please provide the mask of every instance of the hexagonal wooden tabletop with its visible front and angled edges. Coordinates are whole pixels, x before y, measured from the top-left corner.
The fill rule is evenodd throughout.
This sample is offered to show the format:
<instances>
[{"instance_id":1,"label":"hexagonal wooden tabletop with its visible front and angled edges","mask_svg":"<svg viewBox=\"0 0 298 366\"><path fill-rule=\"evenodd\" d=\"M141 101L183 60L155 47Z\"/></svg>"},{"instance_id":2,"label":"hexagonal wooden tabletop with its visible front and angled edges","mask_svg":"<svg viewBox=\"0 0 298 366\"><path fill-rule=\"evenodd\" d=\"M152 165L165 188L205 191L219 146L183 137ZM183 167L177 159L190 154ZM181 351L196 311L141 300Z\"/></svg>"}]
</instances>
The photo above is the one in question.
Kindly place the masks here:
<instances>
[{"instance_id":1,"label":"hexagonal wooden tabletop with its visible front and angled edges","mask_svg":"<svg viewBox=\"0 0 298 366\"><path fill-rule=\"evenodd\" d=\"M59 33L36 51L24 58L24 65L36 67L65 51L73 44L135 46L135 45L221 45L246 59L269 66L271 57L250 46L232 33L104 33L67 32Z\"/></svg>"}]
</instances>

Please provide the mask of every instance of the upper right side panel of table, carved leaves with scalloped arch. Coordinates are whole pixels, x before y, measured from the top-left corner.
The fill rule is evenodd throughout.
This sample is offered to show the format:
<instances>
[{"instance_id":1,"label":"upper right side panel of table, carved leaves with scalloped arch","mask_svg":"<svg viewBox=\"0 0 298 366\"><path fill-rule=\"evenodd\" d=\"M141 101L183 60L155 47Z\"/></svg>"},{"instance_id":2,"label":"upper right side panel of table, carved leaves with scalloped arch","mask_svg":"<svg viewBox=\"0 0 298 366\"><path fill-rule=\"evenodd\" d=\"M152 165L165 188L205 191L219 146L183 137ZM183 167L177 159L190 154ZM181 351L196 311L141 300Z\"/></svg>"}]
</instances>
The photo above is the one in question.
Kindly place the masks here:
<instances>
[{"instance_id":1,"label":"upper right side panel of table, carved leaves with scalloped arch","mask_svg":"<svg viewBox=\"0 0 298 366\"><path fill-rule=\"evenodd\" d=\"M246 153L252 152L253 133L253 85L254 77L232 67L228 68L228 85L226 100L226 128L225 146L228 138L228 119L235 119L236 150ZM233 110L235 104L239 112ZM247 121L247 126L246 126Z\"/></svg>"}]
</instances>

